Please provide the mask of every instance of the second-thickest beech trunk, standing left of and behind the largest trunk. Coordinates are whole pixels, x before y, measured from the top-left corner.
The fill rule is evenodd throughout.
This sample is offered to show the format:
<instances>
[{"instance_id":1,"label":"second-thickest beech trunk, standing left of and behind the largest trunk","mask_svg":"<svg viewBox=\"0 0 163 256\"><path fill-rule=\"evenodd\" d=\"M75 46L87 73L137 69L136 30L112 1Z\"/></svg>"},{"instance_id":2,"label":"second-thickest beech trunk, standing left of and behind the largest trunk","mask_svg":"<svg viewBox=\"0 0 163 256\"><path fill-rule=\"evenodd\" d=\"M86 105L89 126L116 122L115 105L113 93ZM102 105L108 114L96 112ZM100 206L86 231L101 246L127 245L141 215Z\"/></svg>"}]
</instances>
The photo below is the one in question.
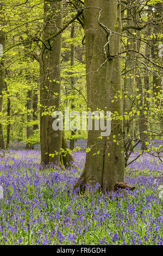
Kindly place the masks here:
<instances>
[{"instance_id":1,"label":"second-thickest beech trunk, standing left of and behind the largest trunk","mask_svg":"<svg viewBox=\"0 0 163 256\"><path fill-rule=\"evenodd\" d=\"M48 14L51 6L53 15ZM43 29L43 42L55 34L61 28L61 1L44 2L45 20ZM60 163L60 149L62 143L62 131L54 131L52 123L52 112L58 111L60 107L60 52L61 33L50 41L51 49L48 50L42 44L40 55L40 141L41 161L44 164L49 162ZM47 45L49 48L50 46ZM45 115L44 113L47 112ZM49 154L58 154L54 157Z\"/></svg>"}]
</instances>

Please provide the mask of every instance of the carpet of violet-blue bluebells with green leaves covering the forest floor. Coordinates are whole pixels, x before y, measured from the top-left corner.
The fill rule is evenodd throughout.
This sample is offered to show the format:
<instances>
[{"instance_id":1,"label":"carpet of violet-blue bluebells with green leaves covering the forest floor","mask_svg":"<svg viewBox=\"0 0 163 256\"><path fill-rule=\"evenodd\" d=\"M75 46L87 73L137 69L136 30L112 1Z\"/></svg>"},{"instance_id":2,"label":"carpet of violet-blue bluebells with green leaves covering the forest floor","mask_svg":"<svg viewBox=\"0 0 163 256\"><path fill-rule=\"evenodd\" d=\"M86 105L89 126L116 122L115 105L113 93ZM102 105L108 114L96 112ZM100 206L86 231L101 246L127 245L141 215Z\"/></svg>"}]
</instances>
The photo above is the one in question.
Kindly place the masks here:
<instances>
[{"instance_id":1,"label":"carpet of violet-blue bluebells with green leaves covering the forest floor","mask_svg":"<svg viewBox=\"0 0 163 256\"><path fill-rule=\"evenodd\" d=\"M1 245L163 245L159 159L143 155L131 163L126 182L136 189L111 200L72 192L85 153L74 153L74 160L76 166L65 171L41 169L39 150L12 149L0 157Z\"/></svg>"}]
</instances>

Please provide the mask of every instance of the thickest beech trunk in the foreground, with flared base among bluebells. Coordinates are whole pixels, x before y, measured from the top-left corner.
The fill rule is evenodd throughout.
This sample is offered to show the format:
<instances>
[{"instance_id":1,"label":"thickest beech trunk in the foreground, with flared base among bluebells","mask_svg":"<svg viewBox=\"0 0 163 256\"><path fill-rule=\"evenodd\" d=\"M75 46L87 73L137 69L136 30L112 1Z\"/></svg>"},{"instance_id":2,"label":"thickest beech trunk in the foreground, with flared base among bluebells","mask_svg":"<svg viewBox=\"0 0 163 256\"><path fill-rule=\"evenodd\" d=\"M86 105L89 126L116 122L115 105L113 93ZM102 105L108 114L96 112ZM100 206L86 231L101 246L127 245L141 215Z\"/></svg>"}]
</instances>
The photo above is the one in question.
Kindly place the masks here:
<instances>
[{"instance_id":1,"label":"thickest beech trunk in the foreground, with flared base among bluebells","mask_svg":"<svg viewBox=\"0 0 163 256\"><path fill-rule=\"evenodd\" d=\"M89 7L84 10L87 107L92 112L97 108L117 112L117 117L122 115L122 100L113 100L118 91L122 92L121 59L114 55L120 52L121 5L112 0L86 0L84 7ZM124 182L122 126L122 118L112 120L109 138L98 138L101 130L88 132L87 147L91 150L86 153L84 172L74 189L79 186L82 191L84 184L93 187L98 183L102 191L111 191L117 181Z\"/></svg>"}]
</instances>

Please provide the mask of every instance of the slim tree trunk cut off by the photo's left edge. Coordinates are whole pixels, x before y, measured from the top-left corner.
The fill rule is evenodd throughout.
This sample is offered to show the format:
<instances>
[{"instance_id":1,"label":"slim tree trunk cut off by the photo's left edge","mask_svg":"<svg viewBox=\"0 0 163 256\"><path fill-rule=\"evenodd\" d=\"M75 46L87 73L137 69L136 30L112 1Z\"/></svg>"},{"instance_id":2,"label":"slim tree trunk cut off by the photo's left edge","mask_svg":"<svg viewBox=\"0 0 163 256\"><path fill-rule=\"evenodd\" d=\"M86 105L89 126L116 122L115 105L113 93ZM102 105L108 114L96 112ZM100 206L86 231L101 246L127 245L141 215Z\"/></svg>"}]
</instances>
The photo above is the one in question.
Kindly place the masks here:
<instances>
[{"instance_id":1,"label":"slim tree trunk cut off by the photo's left edge","mask_svg":"<svg viewBox=\"0 0 163 256\"><path fill-rule=\"evenodd\" d=\"M5 34L0 31L0 44L5 47ZM0 57L0 118L3 112L3 90L4 90L4 58ZM4 136L3 136L3 125L0 119L0 149L5 149Z\"/></svg>"}]
</instances>

